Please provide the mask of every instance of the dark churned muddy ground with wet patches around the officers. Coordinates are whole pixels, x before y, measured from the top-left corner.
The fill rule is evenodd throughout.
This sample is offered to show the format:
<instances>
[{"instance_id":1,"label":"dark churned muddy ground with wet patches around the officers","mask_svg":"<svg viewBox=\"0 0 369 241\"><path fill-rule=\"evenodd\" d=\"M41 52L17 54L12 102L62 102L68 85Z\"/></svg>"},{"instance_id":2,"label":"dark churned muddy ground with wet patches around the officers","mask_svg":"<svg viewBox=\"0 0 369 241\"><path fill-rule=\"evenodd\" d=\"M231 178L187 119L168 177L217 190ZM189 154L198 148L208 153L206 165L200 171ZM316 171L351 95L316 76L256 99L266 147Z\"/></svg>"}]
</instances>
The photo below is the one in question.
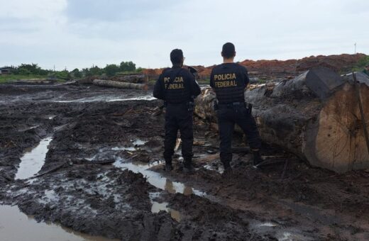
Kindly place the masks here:
<instances>
[{"instance_id":1,"label":"dark churned muddy ground with wet patches around the officers","mask_svg":"<svg viewBox=\"0 0 369 241\"><path fill-rule=\"evenodd\" d=\"M196 172L182 174L179 148L168 174L160 104L137 90L0 85L1 204L120 240L369 240L369 171L335 174L267 144L275 164L253 169L235 134L222 174L217 133L195 118ZM47 138L36 177L16 179Z\"/></svg>"}]
</instances>

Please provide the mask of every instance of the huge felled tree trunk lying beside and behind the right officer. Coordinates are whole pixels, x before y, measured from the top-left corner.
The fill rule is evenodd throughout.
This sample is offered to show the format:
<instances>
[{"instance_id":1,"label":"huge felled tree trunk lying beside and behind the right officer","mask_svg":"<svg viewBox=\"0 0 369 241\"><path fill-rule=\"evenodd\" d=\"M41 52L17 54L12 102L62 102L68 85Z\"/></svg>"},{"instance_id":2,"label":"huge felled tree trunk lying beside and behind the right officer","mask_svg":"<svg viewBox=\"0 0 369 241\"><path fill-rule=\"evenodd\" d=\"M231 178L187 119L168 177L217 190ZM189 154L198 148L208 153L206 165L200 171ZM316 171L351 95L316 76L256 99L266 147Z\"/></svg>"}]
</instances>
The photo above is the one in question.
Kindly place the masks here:
<instances>
[{"instance_id":1,"label":"huge felled tree trunk lying beside and behind the right officer","mask_svg":"<svg viewBox=\"0 0 369 241\"><path fill-rule=\"evenodd\" d=\"M365 81L358 85L369 125ZM204 89L197 99L197 115L215 122L214 99L214 93ZM355 86L331 70L312 69L295 79L247 90L246 102L253 103L263 141L334 172L369 168Z\"/></svg>"}]
</instances>

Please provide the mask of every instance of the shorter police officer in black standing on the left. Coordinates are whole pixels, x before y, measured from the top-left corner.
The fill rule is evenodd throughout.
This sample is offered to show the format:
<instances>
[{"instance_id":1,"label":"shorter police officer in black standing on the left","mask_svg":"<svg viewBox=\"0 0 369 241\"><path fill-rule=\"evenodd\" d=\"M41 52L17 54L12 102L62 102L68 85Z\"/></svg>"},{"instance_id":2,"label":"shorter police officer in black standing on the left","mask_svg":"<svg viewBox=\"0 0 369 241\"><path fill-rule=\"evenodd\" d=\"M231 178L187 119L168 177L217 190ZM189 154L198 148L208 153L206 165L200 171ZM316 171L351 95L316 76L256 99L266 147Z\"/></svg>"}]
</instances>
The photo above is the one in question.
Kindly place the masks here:
<instances>
[{"instance_id":1,"label":"shorter police officer in black standing on the left","mask_svg":"<svg viewBox=\"0 0 369 241\"><path fill-rule=\"evenodd\" d=\"M201 92L194 75L183 67L182 50L170 52L172 68L164 69L156 81L153 96L165 101L165 140L164 159L165 170L172 170L172 155L174 154L177 131L180 130L182 139L182 157L184 172L192 172L192 144L194 134L192 130L192 113L194 98Z\"/></svg>"}]
</instances>

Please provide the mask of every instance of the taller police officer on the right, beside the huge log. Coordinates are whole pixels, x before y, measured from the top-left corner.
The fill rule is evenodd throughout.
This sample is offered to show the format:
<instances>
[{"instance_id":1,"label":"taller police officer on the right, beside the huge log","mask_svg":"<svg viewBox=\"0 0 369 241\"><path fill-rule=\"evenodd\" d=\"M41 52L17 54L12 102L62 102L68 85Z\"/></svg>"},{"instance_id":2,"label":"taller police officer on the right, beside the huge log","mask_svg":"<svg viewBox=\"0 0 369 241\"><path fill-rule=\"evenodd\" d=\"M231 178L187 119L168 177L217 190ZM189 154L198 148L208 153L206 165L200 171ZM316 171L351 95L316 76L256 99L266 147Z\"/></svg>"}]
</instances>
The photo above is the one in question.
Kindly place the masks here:
<instances>
[{"instance_id":1,"label":"taller police officer on the right, beside the huge log","mask_svg":"<svg viewBox=\"0 0 369 241\"><path fill-rule=\"evenodd\" d=\"M224 169L230 170L232 160L231 143L235 123L246 134L250 149L253 152L253 165L263 161L260 157L261 139L255 119L251 115L251 106L245 103L245 88L250 82L246 67L233 62L236 50L232 43L223 45L221 52L223 64L211 70L210 86L216 93L220 158Z\"/></svg>"}]
</instances>

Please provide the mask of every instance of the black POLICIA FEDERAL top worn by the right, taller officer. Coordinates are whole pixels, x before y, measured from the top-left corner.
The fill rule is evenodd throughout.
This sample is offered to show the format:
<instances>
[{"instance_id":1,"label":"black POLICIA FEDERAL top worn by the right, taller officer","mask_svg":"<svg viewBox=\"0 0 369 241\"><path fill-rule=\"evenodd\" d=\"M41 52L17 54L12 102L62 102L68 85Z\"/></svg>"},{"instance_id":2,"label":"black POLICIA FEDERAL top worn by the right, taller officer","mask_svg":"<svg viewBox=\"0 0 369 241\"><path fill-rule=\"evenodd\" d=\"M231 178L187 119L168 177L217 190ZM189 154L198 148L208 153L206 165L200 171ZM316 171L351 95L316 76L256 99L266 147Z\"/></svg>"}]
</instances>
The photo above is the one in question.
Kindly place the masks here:
<instances>
[{"instance_id":1,"label":"black POLICIA FEDERAL top worn by the right, taller officer","mask_svg":"<svg viewBox=\"0 0 369 241\"><path fill-rule=\"evenodd\" d=\"M211 70L210 86L219 103L244 102L248 82L246 67L236 63L217 65Z\"/></svg>"}]
</instances>

